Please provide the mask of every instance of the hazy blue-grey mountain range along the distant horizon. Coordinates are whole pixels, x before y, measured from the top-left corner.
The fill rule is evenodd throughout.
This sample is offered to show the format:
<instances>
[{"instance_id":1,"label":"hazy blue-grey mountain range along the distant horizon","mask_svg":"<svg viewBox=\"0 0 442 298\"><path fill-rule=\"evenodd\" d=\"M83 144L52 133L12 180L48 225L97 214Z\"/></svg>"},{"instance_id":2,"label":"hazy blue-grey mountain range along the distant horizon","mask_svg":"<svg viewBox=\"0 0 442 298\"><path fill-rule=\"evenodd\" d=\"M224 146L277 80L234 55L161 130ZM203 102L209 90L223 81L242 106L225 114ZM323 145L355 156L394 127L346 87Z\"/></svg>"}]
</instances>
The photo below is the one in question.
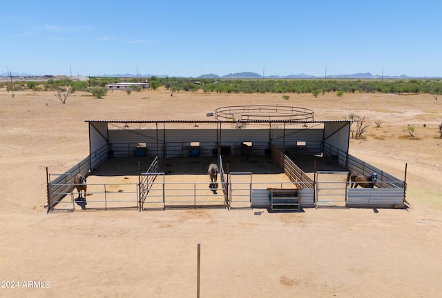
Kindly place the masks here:
<instances>
[{"instance_id":1,"label":"hazy blue-grey mountain range along the distant horizon","mask_svg":"<svg viewBox=\"0 0 442 298\"><path fill-rule=\"evenodd\" d=\"M1 77L8 77L10 74L2 73ZM27 74L27 73L16 73L12 72L12 77L23 77L23 79L28 79L29 77L43 77L43 75L35 75L35 74ZM47 76L47 74L46 74ZM101 74L95 75L92 77L176 77L165 74ZM75 76L77 77L77 76ZM442 77L410 77L402 74L400 76L389 76L384 75L381 76L379 74L371 74L369 72L358 72L355 74L329 74L327 77L321 76L316 77L310 74L289 74L287 76L280 75L271 75L271 76L262 76L256 72L236 72L226 74L224 76L219 76L218 74L202 74L200 77L196 77L193 79L441 79Z\"/></svg>"}]
</instances>

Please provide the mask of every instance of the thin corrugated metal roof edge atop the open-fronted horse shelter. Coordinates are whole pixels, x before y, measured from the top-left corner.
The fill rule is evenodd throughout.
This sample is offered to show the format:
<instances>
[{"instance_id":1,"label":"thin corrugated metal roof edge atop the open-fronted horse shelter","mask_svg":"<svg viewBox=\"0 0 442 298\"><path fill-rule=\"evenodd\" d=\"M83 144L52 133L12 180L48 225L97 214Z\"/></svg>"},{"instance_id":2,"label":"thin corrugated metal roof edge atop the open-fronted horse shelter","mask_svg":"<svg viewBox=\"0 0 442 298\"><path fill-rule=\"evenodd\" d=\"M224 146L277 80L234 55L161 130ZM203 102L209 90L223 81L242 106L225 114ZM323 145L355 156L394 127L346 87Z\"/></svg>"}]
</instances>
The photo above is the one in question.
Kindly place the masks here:
<instances>
[{"instance_id":1,"label":"thin corrugated metal roof edge atop the open-fronted horse shelter","mask_svg":"<svg viewBox=\"0 0 442 298\"><path fill-rule=\"evenodd\" d=\"M230 121L230 120L92 120L87 119L84 122L107 122L107 123L345 123L352 122L354 120L241 120L241 121Z\"/></svg>"}]
</instances>

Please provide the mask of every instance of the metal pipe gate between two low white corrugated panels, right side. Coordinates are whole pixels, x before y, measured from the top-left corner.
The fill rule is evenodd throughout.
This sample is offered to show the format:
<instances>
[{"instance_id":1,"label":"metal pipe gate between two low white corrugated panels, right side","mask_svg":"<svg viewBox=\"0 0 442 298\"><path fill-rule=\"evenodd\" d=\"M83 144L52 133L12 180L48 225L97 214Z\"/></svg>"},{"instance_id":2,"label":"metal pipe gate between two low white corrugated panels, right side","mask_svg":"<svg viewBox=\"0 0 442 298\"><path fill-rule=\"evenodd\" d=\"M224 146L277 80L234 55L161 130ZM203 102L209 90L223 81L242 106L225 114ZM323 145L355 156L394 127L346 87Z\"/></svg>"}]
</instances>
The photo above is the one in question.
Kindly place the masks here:
<instances>
[{"instance_id":1,"label":"metal pipe gate between two low white corrugated panels, right side","mask_svg":"<svg viewBox=\"0 0 442 298\"><path fill-rule=\"evenodd\" d=\"M316 206L347 206L348 172L316 172Z\"/></svg>"}]
</instances>

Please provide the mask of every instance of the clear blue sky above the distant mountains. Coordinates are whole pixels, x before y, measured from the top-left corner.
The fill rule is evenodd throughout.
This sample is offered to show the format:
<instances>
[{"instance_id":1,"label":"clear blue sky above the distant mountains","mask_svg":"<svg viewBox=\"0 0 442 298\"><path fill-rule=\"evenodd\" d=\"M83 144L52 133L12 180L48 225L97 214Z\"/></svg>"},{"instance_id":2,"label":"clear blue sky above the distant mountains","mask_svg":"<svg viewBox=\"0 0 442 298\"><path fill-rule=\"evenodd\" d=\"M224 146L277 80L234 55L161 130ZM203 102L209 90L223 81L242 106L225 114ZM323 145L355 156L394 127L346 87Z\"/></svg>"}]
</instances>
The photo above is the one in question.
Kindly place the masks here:
<instances>
[{"instance_id":1,"label":"clear blue sky above the distant mountains","mask_svg":"<svg viewBox=\"0 0 442 298\"><path fill-rule=\"evenodd\" d=\"M442 76L442 1L3 1L0 71Z\"/></svg>"}]
</instances>

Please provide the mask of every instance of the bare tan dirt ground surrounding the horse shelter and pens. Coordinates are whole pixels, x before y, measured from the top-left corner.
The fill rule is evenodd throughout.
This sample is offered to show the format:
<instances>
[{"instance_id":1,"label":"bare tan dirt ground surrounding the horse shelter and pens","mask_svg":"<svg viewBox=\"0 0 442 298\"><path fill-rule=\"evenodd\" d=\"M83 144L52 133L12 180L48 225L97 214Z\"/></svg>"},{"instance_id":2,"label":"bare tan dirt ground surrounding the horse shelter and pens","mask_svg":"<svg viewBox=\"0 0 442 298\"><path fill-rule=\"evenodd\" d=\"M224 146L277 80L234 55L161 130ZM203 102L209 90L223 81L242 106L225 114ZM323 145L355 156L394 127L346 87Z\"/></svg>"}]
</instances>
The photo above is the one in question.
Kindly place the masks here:
<instances>
[{"instance_id":1,"label":"bare tan dirt ground surrounding the horse shelter and pens","mask_svg":"<svg viewBox=\"0 0 442 298\"><path fill-rule=\"evenodd\" d=\"M442 102L430 95L217 95L166 90L0 89L0 297L438 297L442 291ZM405 176L407 210L82 211L46 214L46 167L89 153L85 119L206 119L220 106L367 117L349 152ZM376 127L375 121L381 126ZM425 127L424 127L425 124ZM191 124L189 124L191 125ZM407 125L414 127L410 137Z\"/></svg>"}]
</instances>

